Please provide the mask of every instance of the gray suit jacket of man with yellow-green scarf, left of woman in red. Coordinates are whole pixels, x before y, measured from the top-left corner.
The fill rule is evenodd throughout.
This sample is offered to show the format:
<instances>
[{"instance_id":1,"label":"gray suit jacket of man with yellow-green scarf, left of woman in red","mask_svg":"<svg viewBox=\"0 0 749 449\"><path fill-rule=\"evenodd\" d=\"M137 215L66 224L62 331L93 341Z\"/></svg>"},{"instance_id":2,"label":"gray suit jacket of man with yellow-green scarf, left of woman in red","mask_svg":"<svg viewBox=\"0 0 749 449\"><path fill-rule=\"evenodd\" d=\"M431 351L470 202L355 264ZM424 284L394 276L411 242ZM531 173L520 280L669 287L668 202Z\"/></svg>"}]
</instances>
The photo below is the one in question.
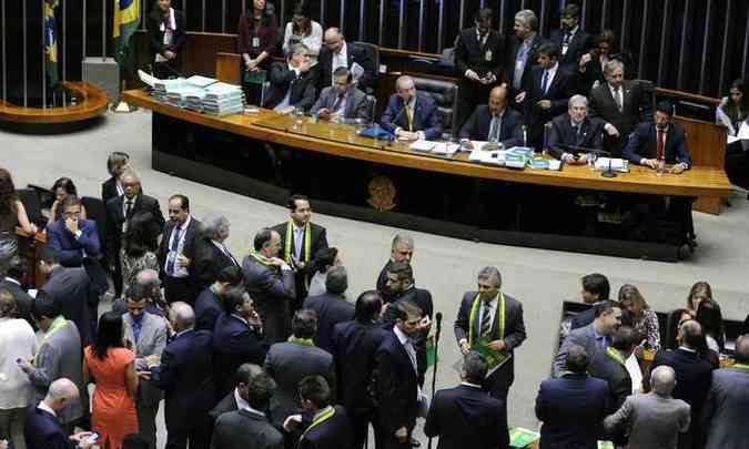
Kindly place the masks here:
<instances>
[{"instance_id":1,"label":"gray suit jacket of man with yellow-green scarf, left of woman in red","mask_svg":"<svg viewBox=\"0 0 749 449\"><path fill-rule=\"evenodd\" d=\"M80 400L58 414L62 424L69 424L82 417L83 404L89 404L89 396L83 388L81 335L75 323L71 320L41 344L34 359L34 369L29 373L29 380L37 389L40 400L47 395L50 384L62 377L75 384L81 394Z\"/></svg>"}]
</instances>

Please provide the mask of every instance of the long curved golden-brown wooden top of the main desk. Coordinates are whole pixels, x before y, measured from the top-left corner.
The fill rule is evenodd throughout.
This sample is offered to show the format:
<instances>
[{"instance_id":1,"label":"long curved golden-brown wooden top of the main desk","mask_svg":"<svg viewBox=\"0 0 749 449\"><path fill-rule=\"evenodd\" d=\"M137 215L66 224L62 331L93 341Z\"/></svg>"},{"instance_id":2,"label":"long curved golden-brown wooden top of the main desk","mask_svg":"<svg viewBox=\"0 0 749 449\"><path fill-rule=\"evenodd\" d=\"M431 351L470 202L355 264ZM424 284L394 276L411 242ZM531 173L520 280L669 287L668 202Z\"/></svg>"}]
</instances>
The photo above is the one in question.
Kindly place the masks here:
<instances>
[{"instance_id":1,"label":"long curved golden-brown wooden top of the main desk","mask_svg":"<svg viewBox=\"0 0 749 449\"><path fill-rule=\"evenodd\" d=\"M295 149L333 154L336 156L370 161L455 175L610 192L682 196L726 196L732 193L726 173L720 169L695 166L680 175L656 176L655 172L632 166L629 173L617 177L603 177L587 166L566 165L559 172L530 169L512 170L468 162L465 153L453 157L425 155L408 150L407 144L374 142L360 137L351 125L313 123L304 119L300 131L294 131L294 118L261 110L249 115L216 118L183 110L152 99L141 90L123 92L131 104L152 110L186 122L213 127L251 139L279 143Z\"/></svg>"}]
</instances>

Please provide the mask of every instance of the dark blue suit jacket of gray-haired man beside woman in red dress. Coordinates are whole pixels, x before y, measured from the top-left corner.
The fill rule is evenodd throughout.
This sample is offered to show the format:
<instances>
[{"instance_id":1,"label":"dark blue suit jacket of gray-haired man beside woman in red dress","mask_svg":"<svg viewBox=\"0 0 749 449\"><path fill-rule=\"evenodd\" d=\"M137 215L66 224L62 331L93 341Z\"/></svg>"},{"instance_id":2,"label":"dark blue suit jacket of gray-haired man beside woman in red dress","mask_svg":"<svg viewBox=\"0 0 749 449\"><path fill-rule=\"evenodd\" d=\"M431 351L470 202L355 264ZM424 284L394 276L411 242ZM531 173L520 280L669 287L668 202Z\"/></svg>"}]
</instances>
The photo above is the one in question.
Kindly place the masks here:
<instances>
[{"instance_id":1,"label":"dark blue suit jacket of gray-haired man beside woman in red dress","mask_svg":"<svg viewBox=\"0 0 749 449\"><path fill-rule=\"evenodd\" d=\"M164 390L164 418L171 432L190 429L215 406L211 376L211 333L188 330L166 345L151 384Z\"/></svg>"}]
</instances>

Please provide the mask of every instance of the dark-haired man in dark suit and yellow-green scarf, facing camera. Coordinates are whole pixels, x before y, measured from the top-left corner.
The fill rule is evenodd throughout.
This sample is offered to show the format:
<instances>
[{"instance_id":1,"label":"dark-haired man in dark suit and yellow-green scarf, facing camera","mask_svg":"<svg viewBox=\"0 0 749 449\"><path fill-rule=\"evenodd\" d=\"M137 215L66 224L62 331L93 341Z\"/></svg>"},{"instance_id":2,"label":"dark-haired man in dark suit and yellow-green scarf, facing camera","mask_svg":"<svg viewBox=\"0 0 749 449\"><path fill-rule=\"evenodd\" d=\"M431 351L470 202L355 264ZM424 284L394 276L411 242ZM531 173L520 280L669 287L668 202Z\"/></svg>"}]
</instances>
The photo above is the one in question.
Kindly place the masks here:
<instances>
[{"instance_id":1,"label":"dark-haired man in dark suit and yellow-green scarf, facing camera","mask_svg":"<svg viewBox=\"0 0 749 449\"><path fill-rule=\"evenodd\" d=\"M327 234L323 226L312 223L310 198L292 195L289 198L290 218L272 227L281 236L283 259L295 269L296 298L291 304L291 313L298 310L307 296L306 285L312 273L313 257L320 249L327 247Z\"/></svg>"}]
</instances>

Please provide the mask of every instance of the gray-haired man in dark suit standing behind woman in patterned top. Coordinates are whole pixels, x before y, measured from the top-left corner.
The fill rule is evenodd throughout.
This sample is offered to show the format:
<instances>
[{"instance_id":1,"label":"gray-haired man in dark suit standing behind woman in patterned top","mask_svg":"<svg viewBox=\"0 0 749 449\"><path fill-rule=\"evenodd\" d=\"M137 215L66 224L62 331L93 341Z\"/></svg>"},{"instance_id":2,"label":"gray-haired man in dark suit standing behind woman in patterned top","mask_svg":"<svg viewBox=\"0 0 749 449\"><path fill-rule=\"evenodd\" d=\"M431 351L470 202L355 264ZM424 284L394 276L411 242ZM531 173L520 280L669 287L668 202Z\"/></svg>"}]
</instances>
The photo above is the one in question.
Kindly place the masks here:
<instances>
[{"instance_id":1,"label":"gray-haired man in dark suit standing behind woman in patterned top","mask_svg":"<svg viewBox=\"0 0 749 449\"><path fill-rule=\"evenodd\" d=\"M141 193L141 181L132 171L125 171L120 176L124 194L107 202L107 257L111 272L115 273L114 297L122 295L122 266L120 265L120 249L122 235L128 225L138 216L146 223L148 246L156 248L156 242L164 228L164 216L159 207L159 201ZM119 275L118 275L119 274Z\"/></svg>"}]
</instances>

